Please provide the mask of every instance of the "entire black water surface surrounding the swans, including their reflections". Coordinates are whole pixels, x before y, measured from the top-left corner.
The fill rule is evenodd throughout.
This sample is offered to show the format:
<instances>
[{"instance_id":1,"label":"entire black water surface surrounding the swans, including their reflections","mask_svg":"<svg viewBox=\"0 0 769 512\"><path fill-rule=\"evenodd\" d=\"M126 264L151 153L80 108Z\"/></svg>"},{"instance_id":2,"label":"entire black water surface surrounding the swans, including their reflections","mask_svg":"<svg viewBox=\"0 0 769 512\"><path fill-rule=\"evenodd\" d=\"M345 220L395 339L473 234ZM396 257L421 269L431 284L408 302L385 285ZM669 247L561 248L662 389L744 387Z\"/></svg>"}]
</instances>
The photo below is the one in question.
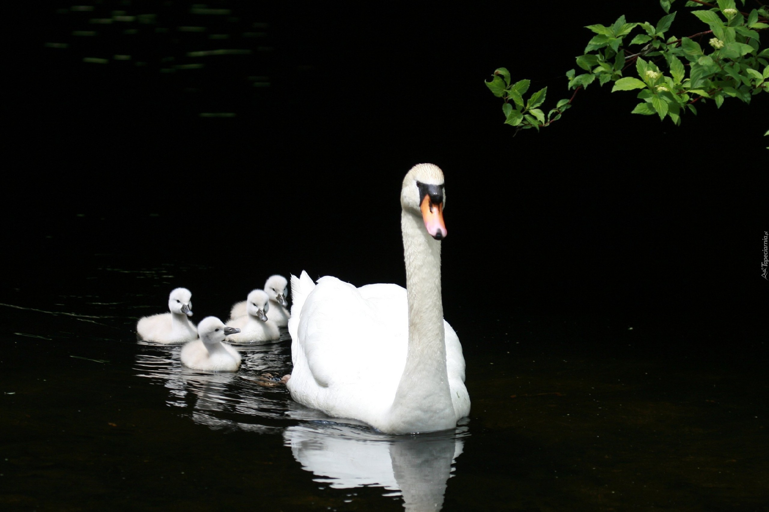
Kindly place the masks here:
<instances>
[{"instance_id":1,"label":"entire black water surface surrounding the swans, including their reflections","mask_svg":"<svg viewBox=\"0 0 769 512\"><path fill-rule=\"evenodd\" d=\"M40 5L9 57L0 509L769 510L767 95L675 128L591 86L513 137L483 84L506 66L554 105L584 26L657 2ZM235 374L136 341L178 286L200 321L274 273L403 285L425 161L457 431L298 406L261 378L287 339Z\"/></svg>"}]
</instances>

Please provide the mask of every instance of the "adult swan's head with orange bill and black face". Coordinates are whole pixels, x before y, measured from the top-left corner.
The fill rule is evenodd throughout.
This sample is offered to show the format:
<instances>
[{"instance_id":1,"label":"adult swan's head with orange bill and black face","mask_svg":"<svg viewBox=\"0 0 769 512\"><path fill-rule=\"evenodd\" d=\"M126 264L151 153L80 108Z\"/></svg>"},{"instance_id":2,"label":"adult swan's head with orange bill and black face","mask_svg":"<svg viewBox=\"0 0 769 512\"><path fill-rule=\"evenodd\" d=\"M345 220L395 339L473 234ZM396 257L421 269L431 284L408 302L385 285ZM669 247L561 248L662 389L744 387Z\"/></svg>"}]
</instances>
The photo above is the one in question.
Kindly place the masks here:
<instances>
[{"instance_id":1,"label":"adult swan's head with orange bill and black face","mask_svg":"<svg viewBox=\"0 0 769 512\"><path fill-rule=\"evenodd\" d=\"M443 208L446 206L443 171L438 165L418 164L403 178L401 207L421 215L424 228L435 240L442 240L448 234L443 222Z\"/></svg>"}]
</instances>

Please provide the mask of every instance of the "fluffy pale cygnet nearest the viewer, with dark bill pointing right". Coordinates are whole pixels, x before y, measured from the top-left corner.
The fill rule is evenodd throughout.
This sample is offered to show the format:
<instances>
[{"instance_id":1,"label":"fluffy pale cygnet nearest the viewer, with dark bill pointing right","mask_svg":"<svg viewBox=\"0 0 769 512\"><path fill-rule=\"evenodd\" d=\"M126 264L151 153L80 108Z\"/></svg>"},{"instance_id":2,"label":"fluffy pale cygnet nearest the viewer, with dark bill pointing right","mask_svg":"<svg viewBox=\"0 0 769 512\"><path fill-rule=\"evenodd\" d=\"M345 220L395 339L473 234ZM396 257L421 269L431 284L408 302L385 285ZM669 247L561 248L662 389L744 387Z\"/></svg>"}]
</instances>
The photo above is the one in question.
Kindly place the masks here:
<instances>
[{"instance_id":1,"label":"fluffy pale cygnet nearest the viewer, with dark bill pointing right","mask_svg":"<svg viewBox=\"0 0 769 512\"><path fill-rule=\"evenodd\" d=\"M227 327L216 317L206 317L198 324L200 337L181 348L181 363L193 370L238 371L241 357L225 341L225 336L240 332Z\"/></svg>"}]
</instances>

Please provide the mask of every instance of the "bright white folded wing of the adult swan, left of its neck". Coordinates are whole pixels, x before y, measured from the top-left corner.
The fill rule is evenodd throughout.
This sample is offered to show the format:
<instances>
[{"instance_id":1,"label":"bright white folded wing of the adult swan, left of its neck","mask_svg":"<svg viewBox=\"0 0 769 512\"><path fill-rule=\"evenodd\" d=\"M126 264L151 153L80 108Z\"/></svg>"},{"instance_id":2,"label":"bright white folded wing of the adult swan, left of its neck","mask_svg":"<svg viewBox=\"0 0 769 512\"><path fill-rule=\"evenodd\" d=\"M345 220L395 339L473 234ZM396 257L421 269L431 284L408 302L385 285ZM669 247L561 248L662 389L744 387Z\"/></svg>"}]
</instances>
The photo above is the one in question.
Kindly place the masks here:
<instances>
[{"instance_id":1,"label":"bright white folded wing of the adult swan, left of its neck","mask_svg":"<svg viewBox=\"0 0 769 512\"><path fill-rule=\"evenodd\" d=\"M358 289L321 278L298 319L302 361L295 364L289 387L299 401L341 417L360 418L347 408L355 404L389 405L403 373L407 333L403 288ZM301 374L305 364L311 381Z\"/></svg>"}]
</instances>

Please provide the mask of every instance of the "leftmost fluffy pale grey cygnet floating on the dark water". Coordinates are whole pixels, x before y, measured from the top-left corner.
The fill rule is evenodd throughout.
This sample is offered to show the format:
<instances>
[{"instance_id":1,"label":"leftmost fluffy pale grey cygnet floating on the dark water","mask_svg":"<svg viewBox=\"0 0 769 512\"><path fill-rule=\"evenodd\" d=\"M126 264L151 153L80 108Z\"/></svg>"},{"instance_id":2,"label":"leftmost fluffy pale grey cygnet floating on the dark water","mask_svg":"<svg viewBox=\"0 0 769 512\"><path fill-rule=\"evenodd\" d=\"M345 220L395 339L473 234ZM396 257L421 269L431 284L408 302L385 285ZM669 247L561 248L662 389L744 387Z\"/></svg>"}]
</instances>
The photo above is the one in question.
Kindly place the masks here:
<instances>
[{"instance_id":1,"label":"leftmost fluffy pale grey cygnet floating on the dark water","mask_svg":"<svg viewBox=\"0 0 769 512\"><path fill-rule=\"evenodd\" d=\"M198 337L195 325L187 317L192 316L192 297L187 288L176 288L168 295L170 313L153 314L140 318L136 332L145 341L158 343L184 343Z\"/></svg>"}]
</instances>

